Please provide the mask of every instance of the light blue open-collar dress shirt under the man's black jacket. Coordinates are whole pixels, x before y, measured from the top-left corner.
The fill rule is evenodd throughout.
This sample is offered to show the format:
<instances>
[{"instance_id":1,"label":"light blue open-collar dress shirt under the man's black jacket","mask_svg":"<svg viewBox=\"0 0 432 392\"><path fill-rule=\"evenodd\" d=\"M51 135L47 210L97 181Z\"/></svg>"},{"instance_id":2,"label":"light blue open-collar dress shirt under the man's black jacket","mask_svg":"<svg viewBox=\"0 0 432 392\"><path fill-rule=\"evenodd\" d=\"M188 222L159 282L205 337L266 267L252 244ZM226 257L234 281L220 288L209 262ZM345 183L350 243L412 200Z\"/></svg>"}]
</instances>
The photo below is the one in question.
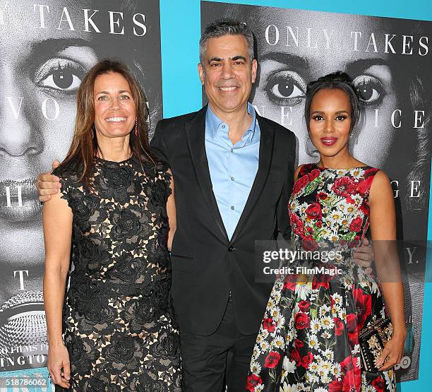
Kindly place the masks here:
<instances>
[{"instance_id":1,"label":"light blue open-collar dress shirt under the man's black jacket","mask_svg":"<svg viewBox=\"0 0 432 392\"><path fill-rule=\"evenodd\" d=\"M260 126L250 103L248 114L252 116L251 126L234 145L228 137L228 124L212 112L210 105L205 114L205 152L228 239L236 229L258 171Z\"/></svg>"}]
</instances>

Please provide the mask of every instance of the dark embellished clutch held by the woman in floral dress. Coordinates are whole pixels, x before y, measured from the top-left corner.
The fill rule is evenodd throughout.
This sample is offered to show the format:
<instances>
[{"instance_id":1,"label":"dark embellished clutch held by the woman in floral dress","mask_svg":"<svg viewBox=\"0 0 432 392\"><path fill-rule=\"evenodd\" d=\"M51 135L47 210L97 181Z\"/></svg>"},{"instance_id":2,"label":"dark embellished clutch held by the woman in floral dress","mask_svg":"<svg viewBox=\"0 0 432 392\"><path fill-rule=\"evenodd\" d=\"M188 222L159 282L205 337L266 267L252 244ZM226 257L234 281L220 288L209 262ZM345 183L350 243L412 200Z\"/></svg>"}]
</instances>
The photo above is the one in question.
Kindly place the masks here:
<instances>
[{"instance_id":1,"label":"dark embellished clutch held by the woman in floral dress","mask_svg":"<svg viewBox=\"0 0 432 392\"><path fill-rule=\"evenodd\" d=\"M379 372L376 361L383 352L385 343L392 338L392 334L390 317L374 321L359 332L361 367L367 372Z\"/></svg>"}]
</instances>

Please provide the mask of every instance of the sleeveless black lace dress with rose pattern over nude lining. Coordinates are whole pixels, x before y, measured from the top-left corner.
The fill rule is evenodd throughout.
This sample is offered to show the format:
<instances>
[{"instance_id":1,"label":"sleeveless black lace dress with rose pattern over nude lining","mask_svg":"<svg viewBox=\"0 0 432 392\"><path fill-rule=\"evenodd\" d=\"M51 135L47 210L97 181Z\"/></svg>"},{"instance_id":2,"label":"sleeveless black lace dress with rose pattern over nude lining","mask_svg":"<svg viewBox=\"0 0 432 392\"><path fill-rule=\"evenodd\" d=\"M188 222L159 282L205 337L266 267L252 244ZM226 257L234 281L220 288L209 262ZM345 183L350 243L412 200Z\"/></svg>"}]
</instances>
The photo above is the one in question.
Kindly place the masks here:
<instances>
[{"instance_id":1,"label":"sleeveless black lace dress with rose pattern over nude lining","mask_svg":"<svg viewBox=\"0 0 432 392\"><path fill-rule=\"evenodd\" d=\"M74 170L55 174L73 212L63 312L71 390L181 391L169 295L167 168L95 158L90 188Z\"/></svg>"}]
</instances>

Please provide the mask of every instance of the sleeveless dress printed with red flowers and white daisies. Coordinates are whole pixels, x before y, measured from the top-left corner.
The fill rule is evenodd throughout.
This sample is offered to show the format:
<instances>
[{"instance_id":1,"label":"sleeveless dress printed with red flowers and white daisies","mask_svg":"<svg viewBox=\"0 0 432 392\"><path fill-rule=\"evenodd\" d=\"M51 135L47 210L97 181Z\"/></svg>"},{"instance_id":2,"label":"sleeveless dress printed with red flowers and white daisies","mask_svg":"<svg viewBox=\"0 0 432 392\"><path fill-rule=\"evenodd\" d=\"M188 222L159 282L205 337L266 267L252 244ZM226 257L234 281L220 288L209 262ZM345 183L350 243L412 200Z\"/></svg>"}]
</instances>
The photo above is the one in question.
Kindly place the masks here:
<instances>
[{"instance_id":1,"label":"sleeveless dress printed with red flowers and white daisies","mask_svg":"<svg viewBox=\"0 0 432 392\"><path fill-rule=\"evenodd\" d=\"M359 331L385 317L378 282L352 262L368 230L368 196L376 172L373 167L301 167L289 216L292 247L306 256L289 263L294 273L275 281L247 391L396 391L394 372L366 372L359 351ZM311 273L316 267L326 270Z\"/></svg>"}]
</instances>

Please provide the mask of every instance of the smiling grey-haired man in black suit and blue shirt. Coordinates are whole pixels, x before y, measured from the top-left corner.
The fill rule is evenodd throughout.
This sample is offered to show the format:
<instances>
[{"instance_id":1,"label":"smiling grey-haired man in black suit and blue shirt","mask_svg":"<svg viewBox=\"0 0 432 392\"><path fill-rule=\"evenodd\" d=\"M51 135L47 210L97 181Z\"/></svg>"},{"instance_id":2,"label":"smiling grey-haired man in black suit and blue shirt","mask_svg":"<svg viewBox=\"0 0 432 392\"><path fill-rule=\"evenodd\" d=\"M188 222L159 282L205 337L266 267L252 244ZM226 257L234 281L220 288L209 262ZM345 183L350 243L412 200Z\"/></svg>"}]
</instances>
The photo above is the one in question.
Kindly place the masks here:
<instances>
[{"instance_id":1,"label":"smiling grey-haired man in black suit and blue shirt","mask_svg":"<svg viewBox=\"0 0 432 392\"><path fill-rule=\"evenodd\" d=\"M272 287L255 282L255 241L290 234L287 204L296 142L291 131L248 105L256 68L253 35L246 25L234 20L208 25L200 40L198 71L209 104L161 120L150 143L174 177L172 296L186 391L221 391L227 357L228 391L245 390ZM232 187L237 180L243 187ZM236 189L244 190L244 198L227 206L227 192Z\"/></svg>"}]
</instances>

